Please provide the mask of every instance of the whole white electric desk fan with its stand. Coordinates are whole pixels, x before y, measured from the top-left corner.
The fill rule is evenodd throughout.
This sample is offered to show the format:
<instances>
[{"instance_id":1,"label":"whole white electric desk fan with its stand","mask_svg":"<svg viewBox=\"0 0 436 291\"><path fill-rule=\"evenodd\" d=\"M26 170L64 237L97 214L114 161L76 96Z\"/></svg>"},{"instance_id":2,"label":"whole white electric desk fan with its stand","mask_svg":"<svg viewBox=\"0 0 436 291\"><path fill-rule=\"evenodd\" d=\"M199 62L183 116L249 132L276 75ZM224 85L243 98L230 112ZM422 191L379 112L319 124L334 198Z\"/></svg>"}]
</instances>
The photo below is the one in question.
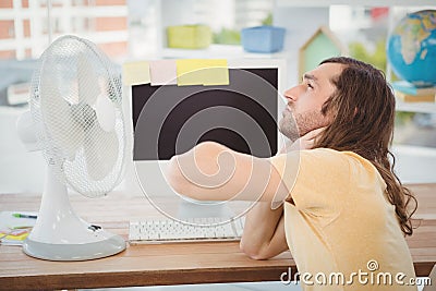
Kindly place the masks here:
<instances>
[{"instance_id":1,"label":"whole white electric desk fan with its stand","mask_svg":"<svg viewBox=\"0 0 436 291\"><path fill-rule=\"evenodd\" d=\"M106 195L124 172L121 74L90 41L63 36L41 54L28 112L17 121L29 150L43 150L47 174L36 225L23 251L49 260L85 260L122 252L125 241L81 219L68 187Z\"/></svg>"}]
</instances>

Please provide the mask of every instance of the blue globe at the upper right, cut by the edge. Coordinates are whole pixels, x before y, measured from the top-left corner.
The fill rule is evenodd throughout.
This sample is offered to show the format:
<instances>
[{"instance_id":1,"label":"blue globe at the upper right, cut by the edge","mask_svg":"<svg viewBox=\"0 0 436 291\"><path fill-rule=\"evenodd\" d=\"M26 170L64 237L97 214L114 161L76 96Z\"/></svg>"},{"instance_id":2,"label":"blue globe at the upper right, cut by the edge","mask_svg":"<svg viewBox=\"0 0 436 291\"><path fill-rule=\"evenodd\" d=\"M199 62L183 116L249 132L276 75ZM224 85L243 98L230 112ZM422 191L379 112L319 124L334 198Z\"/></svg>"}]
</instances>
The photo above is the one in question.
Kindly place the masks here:
<instances>
[{"instance_id":1,"label":"blue globe at the upper right, cut by the edge","mask_svg":"<svg viewBox=\"0 0 436 291\"><path fill-rule=\"evenodd\" d=\"M436 84L436 10L408 14L390 34L386 53L397 74L415 86Z\"/></svg>"}]
</instances>

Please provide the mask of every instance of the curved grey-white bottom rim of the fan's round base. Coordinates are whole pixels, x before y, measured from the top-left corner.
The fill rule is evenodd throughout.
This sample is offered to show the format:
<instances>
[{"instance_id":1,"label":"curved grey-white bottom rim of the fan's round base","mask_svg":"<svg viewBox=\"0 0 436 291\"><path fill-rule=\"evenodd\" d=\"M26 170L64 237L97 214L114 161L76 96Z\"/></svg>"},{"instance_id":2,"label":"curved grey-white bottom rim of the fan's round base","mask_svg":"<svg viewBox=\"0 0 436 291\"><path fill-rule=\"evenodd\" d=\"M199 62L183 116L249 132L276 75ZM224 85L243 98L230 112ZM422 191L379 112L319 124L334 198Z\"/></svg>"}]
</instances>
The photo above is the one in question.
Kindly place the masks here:
<instances>
[{"instance_id":1,"label":"curved grey-white bottom rim of the fan's round base","mask_svg":"<svg viewBox=\"0 0 436 291\"><path fill-rule=\"evenodd\" d=\"M125 241L120 235L92 243L53 244L24 241L23 252L29 256L47 260L87 260L111 256L125 250Z\"/></svg>"}]
</instances>

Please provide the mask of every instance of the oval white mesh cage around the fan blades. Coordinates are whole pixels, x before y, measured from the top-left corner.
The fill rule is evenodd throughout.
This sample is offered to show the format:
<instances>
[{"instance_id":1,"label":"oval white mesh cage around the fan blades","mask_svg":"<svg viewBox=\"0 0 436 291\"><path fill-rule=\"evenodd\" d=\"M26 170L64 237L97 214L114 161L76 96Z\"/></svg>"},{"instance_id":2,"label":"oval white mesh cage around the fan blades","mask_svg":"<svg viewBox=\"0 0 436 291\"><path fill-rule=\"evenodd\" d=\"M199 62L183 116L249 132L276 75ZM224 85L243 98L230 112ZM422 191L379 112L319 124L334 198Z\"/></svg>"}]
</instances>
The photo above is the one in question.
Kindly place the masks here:
<instances>
[{"instance_id":1,"label":"oval white mesh cage around the fan blades","mask_svg":"<svg viewBox=\"0 0 436 291\"><path fill-rule=\"evenodd\" d=\"M93 84L95 80L78 82L81 61L97 84ZM114 108L113 132L102 132L93 114L86 114L94 105L80 90L106 94ZM45 50L32 78L29 107L39 147L61 182L88 197L105 195L121 182L126 156L121 72L93 43L69 35ZM86 155L86 144L92 145L93 155ZM104 167L106 156L113 156L108 148L118 153L110 170L93 179L90 167Z\"/></svg>"}]
</instances>

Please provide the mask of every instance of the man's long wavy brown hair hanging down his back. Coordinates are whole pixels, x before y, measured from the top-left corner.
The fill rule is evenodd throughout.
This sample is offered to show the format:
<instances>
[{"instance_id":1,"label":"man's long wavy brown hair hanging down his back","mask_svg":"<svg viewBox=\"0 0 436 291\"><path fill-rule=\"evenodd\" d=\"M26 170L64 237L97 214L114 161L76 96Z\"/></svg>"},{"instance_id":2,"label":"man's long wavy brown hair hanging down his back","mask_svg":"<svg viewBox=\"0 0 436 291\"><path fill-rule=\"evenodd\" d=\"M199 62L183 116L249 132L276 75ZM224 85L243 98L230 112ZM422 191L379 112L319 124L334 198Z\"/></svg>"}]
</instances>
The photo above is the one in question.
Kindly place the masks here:
<instances>
[{"instance_id":1,"label":"man's long wavy brown hair hanging down his back","mask_svg":"<svg viewBox=\"0 0 436 291\"><path fill-rule=\"evenodd\" d=\"M385 74L371 64L346 57L330 58L323 63L340 63L344 69L331 80L337 89L323 106L322 112L334 116L334 120L314 147L351 150L370 160L387 184L386 195L396 207L402 232L411 235L410 217L417 202L393 172L395 157L389 146L393 137L396 101ZM408 209L411 201L414 207Z\"/></svg>"}]
</instances>

